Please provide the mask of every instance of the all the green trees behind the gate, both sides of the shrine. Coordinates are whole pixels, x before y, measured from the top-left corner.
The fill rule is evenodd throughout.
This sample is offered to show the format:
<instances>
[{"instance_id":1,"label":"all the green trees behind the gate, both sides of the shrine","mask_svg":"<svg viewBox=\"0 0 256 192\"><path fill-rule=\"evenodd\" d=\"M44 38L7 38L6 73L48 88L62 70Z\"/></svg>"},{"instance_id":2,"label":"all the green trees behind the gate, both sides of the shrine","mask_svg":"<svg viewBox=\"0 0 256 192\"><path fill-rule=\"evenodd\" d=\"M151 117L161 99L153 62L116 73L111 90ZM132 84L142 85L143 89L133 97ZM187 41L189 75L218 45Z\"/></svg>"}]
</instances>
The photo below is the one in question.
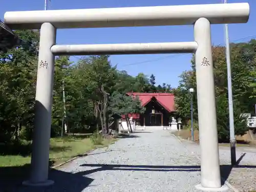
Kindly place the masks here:
<instances>
[{"instance_id":1,"label":"all the green trees behind the gate, both sides of the shrine","mask_svg":"<svg viewBox=\"0 0 256 192\"><path fill-rule=\"evenodd\" d=\"M15 33L26 43L0 55L0 140L5 143L31 139L33 132L39 32L17 30ZM254 39L248 43L231 44L234 123L238 135L247 131L240 114L253 113L256 103L255 50ZM218 133L219 139L226 140L229 137L229 121L225 48L213 47L212 53ZM174 93L178 114L189 127L189 88L195 90L193 113L196 129L198 115L194 57L191 59L191 70L183 72L180 77L179 87L173 89L166 83L156 86L154 74L148 77L139 73L133 77L126 71L118 71L116 66L111 65L108 55L88 56L76 63L70 62L68 56L56 57L51 135L59 136L62 131L62 118L65 117L63 88L66 93L66 122L72 133L92 133L99 129L108 132L108 124L114 114L143 113L145 109L141 107L139 99L126 95L128 92ZM95 143L100 142L97 137Z\"/></svg>"}]
</instances>

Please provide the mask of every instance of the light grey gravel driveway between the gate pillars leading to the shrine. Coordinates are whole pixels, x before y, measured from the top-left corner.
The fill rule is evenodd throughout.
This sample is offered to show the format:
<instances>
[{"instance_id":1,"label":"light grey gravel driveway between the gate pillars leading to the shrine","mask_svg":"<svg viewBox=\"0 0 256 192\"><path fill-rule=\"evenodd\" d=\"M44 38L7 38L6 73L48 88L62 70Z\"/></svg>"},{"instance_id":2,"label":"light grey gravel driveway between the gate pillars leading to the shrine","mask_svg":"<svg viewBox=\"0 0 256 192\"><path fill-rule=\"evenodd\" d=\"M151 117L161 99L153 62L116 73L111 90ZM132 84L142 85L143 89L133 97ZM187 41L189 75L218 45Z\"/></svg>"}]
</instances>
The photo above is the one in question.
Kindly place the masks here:
<instances>
[{"instance_id":1,"label":"light grey gravel driveway between the gate pillars leading to the shrine","mask_svg":"<svg viewBox=\"0 0 256 192\"><path fill-rule=\"evenodd\" d=\"M106 151L96 150L61 170L77 178L63 181L72 186L66 191L183 192L196 191L199 165L199 160L169 131L159 130L130 134Z\"/></svg>"}]
</instances>

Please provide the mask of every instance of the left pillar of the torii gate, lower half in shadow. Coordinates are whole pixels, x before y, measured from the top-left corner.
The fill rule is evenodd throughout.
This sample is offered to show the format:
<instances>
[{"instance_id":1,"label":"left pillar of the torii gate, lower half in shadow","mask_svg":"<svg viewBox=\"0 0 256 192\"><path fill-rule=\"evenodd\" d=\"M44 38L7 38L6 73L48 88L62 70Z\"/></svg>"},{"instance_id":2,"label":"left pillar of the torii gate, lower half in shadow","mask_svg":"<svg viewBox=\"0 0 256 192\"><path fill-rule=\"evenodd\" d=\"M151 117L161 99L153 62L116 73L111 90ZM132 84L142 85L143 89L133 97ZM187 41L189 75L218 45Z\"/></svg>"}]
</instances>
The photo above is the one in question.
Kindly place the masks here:
<instances>
[{"instance_id":1,"label":"left pillar of the torii gate, lower half in shadow","mask_svg":"<svg viewBox=\"0 0 256 192\"><path fill-rule=\"evenodd\" d=\"M42 24L37 68L31 177L29 181L23 182L24 185L47 186L54 183L48 180L48 171L54 74L54 55L51 47L55 45L55 41L54 26L50 23Z\"/></svg>"}]
</instances>

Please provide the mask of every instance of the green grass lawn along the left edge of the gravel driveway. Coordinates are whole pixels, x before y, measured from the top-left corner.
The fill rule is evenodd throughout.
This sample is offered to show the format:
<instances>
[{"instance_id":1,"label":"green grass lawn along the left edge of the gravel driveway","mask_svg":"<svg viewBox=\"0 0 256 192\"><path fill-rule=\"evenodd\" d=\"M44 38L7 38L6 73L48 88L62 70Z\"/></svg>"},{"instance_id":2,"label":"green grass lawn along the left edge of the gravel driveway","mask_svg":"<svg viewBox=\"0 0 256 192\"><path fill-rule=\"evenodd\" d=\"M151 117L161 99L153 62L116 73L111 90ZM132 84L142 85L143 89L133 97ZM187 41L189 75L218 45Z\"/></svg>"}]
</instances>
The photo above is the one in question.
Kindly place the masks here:
<instances>
[{"instance_id":1,"label":"green grass lawn along the left edge of the gravel driveway","mask_svg":"<svg viewBox=\"0 0 256 192\"><path fill-rule=\"evenodd\" d=\"M78 155L85 154L94 148L108 146L115 139L97 138L101 136L65 136L63 138L51 138L50 140L50 161L53 165L65 162ZM0 146L0 167L23 166L30 163L31 141L22 141ZM3 150L2 150L3 149ZM5 149L5 150L4 150Z\"/></svg>"}]
</instances>

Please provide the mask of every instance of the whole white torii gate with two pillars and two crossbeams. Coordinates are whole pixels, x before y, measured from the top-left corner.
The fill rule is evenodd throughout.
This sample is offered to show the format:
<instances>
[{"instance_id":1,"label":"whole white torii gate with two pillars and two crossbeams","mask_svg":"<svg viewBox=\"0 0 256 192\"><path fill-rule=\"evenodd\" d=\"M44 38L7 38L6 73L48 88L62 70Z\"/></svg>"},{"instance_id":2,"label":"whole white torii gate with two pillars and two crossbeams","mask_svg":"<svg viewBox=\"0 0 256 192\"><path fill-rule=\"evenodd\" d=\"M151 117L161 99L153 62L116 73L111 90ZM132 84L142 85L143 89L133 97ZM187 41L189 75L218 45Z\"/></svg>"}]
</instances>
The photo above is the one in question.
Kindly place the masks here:
<instances>
[{"instance_id":1,"label":"whole white torii gate with two pillars and two crossbeams","mask_svg":"<svg viewBox=\"0 0 256 192\"><path fill-rule=\"evenodd\" d=\"M196 187L226 190L220 177L210 24L247 23L248 18L247 3L6 12L5 24L11 29L40 29L32 173L24 184L53 184L48 180L48 166L55 55L195 52L201 148L201 184ZM170 25L194 25L195 41L55 45L56 29Z\"/></svg>"}]
</instances>

